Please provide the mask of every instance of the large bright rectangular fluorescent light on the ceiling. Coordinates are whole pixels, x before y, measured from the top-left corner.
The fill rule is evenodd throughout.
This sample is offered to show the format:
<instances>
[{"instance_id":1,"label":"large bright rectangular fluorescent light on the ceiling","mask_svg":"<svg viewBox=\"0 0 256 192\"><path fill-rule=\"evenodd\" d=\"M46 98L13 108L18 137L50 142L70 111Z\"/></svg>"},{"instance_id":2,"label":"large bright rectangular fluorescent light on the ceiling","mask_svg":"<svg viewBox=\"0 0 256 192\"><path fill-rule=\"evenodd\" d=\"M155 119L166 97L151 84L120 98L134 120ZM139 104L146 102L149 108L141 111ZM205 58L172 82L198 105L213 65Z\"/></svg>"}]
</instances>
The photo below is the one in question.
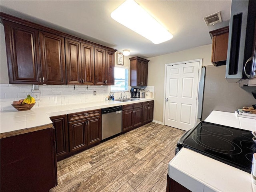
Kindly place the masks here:
<instances>
[{"instance_id":1,"label":"large bright rectangular fluorescent light on the ceiling","mask_svg":"<svg viewBox=\"0 0 256 192\"><path fill-rule=\"evenodd\" d=\"M168 41L173 37L166 28L134 0L126 0L111 13L111 17L154 44Z\"/></svg>"}]
</instances>

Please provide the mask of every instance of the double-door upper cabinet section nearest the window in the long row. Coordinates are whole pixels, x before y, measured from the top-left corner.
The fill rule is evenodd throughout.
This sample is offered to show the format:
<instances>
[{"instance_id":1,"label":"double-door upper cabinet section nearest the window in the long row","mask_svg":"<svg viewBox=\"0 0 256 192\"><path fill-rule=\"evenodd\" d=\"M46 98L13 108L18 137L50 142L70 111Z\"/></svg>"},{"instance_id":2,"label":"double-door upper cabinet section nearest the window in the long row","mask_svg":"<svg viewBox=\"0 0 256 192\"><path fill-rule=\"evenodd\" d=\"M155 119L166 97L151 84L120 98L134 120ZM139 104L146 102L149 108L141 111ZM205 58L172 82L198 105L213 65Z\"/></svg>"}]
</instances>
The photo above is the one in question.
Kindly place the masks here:
<instances>
[{"instance_id":1,"label":"double-door upper cabinet section nearest the window in the long row","mask_svg":"<svg viewBox=\"0 0 256 192\"><path fill-rule=\"evenodd\" d=\"M114 52L94 48L95 85L114 85Z\"/></svg>"}]
</instances>

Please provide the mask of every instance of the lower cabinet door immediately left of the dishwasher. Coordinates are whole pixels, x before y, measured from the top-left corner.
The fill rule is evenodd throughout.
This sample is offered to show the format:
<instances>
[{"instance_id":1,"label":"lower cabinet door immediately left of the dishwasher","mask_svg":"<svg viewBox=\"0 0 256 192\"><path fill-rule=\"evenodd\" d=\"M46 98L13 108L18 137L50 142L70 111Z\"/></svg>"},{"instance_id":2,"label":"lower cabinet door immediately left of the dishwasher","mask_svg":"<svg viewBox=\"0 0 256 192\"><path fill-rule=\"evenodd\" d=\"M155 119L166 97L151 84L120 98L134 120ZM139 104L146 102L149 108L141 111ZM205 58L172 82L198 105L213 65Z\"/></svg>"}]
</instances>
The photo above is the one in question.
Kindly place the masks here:
<instances>
[{"instance_id":1,"label":"lower cabinet door immediately left of the dishwasher","mask_svg":"<svg viewBox=\"0 0 256 192\"><path fill-rule=\"evenodd\" d=\"M88 145L99 143L101 141L101 116L87 119Z\"/></svg>"}]
</instances>

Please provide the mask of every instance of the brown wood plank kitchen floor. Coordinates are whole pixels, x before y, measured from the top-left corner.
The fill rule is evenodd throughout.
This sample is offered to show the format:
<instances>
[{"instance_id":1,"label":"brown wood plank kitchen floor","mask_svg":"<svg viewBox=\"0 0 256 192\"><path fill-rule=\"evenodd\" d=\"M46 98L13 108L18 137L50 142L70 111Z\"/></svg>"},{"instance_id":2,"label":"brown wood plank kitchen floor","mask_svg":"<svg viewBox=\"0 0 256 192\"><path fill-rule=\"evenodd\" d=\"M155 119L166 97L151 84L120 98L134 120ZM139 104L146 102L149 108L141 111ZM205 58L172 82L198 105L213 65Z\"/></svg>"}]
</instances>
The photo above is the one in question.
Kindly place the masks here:
<instances>
[{"instance_id":1,"label":"brown wood plank kitchen floor","mask_svg":"<svg viewBox=\"0 0 256 192\"><path fill-rule=\"evenodd\" d=\"M51 192L165 192L168 162L184 131L149 123L57 162Z\"/></svg>"}]
</instances>

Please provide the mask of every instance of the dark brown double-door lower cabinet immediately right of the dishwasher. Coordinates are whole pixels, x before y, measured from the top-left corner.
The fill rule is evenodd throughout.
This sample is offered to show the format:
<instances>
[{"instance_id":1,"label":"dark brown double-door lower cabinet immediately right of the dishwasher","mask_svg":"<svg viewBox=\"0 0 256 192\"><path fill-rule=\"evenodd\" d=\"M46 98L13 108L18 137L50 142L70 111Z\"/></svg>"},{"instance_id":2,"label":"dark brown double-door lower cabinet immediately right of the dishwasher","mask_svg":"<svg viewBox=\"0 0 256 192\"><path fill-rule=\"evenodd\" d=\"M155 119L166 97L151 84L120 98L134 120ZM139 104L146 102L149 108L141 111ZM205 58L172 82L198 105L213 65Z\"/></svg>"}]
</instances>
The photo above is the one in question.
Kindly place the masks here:
<instances>
[{"instance_id":1,"label":"dark brown double-door lower cabinet immediately right of the dishwasher","mask_svg":"<svg viewBox=\"0 0 256 192\"><path fill-rule=\"evenodd\" d=\"M122 133L142 125L142 102L123 106Z\"/></svg>"}]
</instances>

